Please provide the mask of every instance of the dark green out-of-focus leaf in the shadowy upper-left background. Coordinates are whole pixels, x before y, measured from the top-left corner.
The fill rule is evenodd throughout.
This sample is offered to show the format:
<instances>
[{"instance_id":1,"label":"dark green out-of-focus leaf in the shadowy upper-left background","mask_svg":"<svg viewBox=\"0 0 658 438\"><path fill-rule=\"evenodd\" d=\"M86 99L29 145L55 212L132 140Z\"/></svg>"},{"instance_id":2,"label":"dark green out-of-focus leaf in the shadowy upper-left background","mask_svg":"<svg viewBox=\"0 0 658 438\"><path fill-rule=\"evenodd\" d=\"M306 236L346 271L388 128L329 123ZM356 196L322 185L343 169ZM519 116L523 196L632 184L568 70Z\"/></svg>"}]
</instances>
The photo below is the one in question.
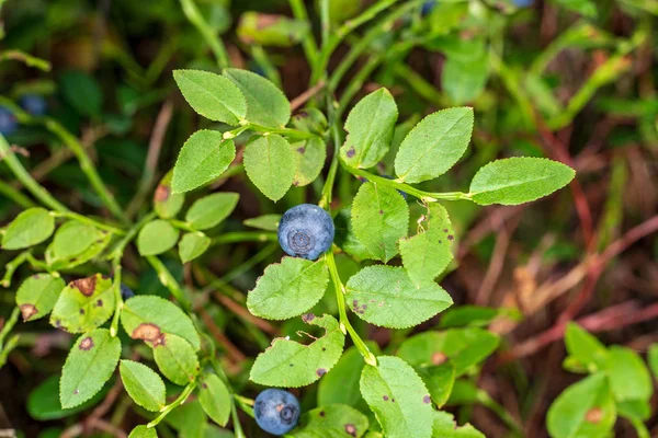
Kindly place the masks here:
<instances>
[{"instance_id":1,"label":"dark green out-of-focus leaf in the shadowy upper-left background","mask_svg":"<svg viewBox=\"0 0 658 438\"><path fill-rule=\"evenodd\" d=\"M82 71L69 70L59 78L59 90L64 99L81 115L101 115L103 93L97 80Z\"/></svg>"}]
</instances>

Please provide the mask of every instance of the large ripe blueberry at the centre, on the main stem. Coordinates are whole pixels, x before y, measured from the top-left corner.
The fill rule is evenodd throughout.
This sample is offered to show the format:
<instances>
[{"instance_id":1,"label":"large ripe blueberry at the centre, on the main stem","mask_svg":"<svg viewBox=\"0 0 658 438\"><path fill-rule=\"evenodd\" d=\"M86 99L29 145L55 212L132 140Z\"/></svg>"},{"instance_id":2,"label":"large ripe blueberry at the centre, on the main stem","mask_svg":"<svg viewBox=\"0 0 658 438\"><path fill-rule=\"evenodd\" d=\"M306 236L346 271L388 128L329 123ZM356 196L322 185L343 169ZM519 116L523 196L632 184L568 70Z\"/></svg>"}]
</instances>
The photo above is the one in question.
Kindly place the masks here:
<instances>
[{"instance_id":1,"label":"large ripe blueberry at the centre, on the main stem","mask_svg":"<svg viewBox=\"0 0 658 438\"><path fill-rule=\"evenodd\" d=\"M331 247L333 232L327 211L313 204L299 204L281 218L279 244L288 255L316 260Z\"/></svg>"}]
</instances>

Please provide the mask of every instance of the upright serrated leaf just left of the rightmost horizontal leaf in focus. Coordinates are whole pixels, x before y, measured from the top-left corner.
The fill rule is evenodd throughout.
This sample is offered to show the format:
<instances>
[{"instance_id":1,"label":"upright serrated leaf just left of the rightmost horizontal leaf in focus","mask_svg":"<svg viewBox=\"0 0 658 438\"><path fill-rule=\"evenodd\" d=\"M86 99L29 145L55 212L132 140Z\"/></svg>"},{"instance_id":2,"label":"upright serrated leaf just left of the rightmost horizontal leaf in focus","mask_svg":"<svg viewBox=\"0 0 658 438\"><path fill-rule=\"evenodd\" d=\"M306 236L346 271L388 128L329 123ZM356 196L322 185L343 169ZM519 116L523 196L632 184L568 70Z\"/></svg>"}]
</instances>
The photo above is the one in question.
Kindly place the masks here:
<instances>
[{"instance_id":1,"label":"upright serrated leaf just left of the rightmost horizontal leaf in focus","mask_svg":"<svg viewBox=\"0 0 658 438\"><path fill-rule=\"evenodd\" d=\"M430 114L407 135L395 158L395 172L407 183L443 175L462 158L473 132L473 108Z\"/></svg>"}]
</instances>

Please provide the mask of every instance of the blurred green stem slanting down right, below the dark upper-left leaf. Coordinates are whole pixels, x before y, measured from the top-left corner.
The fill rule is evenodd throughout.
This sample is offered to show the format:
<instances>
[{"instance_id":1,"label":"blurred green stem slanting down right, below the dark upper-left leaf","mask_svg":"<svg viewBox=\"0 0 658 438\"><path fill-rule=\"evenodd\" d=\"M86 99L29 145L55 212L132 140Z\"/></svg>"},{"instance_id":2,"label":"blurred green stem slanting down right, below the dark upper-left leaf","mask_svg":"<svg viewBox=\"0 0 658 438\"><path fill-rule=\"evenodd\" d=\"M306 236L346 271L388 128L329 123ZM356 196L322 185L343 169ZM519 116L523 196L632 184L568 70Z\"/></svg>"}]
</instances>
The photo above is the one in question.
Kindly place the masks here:
<instances>
[{"instance_id":1,"label":"blurred green stem slanting down right, below the dark upper-left leaf","mask_svg":"<svg viewBox=\"0 0 658 438\"><path fill-rule=\"evenodd\" d=\"M91 159L84 151L84 147L80 143L80 141L78 141L78 139L73 135L66 130L66 128L55 119L47 118L45 122L45 126L50 132L59 137L59 139L71 150L71 152L73 152L73 154L78 159L78 162L80 163L80 169L82 170L82 172L84 172L87 178L91 183L91 186L100 196L103 204L112 212L112 215L114 215L121 221L127 223L128 219L124 210L121 208L121 206L114 198L114 195L110 193L110 191L105 186L105 183L103 183L103 180L101 180L101 176L97 171L95 164L93 163L93 161L91 161Z\"/></svg>"}]
</instances>

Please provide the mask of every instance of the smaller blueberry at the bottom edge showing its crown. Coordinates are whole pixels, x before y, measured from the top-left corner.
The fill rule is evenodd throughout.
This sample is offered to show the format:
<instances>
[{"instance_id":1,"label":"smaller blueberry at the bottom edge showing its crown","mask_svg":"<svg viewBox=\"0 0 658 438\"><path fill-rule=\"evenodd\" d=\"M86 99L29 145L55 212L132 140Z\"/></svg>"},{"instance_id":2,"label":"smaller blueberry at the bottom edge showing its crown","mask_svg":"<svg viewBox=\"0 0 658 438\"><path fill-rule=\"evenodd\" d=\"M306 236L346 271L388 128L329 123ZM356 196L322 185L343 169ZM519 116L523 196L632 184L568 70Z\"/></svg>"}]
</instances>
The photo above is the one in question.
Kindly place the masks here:
<instances>
[{"instance_id":1,"label":"smaller blueberry at the bottom edge showing its crown","mask_svg":"<svg viewBox=\"0 0 658 438\"><path fill-rule=\"evenodd\" d=\"M299 402L290 392L271 388L256 397L253 416L261 429L281 436L297 426Z\"/></svg>"}]
</instances>

